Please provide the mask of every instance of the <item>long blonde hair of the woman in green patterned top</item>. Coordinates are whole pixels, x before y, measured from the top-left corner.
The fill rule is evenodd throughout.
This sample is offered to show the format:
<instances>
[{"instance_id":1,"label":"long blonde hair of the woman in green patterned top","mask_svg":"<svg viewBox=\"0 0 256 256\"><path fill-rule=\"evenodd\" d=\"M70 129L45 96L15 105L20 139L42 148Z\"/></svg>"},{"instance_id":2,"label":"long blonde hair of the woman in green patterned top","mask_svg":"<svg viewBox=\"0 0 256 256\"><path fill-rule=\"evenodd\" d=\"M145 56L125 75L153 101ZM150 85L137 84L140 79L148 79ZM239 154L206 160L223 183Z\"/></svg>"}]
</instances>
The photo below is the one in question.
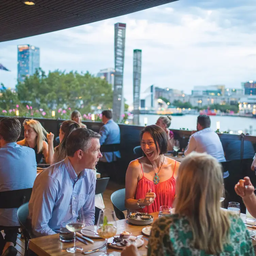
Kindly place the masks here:
<instances>
[{"instance_id":1,"label":"long blonde hair of the woman in green patterned top","mask_svg":"<svg viewBox=\"0 0 256 256\"><path fill-rule=\"evenodd\" d=\"M179 167L175 213L185 215L193 232L194 247L218 255L229 242L228 213L220 209L223 176L212 156L192 153Z\"/></svg>"}]
</instances>

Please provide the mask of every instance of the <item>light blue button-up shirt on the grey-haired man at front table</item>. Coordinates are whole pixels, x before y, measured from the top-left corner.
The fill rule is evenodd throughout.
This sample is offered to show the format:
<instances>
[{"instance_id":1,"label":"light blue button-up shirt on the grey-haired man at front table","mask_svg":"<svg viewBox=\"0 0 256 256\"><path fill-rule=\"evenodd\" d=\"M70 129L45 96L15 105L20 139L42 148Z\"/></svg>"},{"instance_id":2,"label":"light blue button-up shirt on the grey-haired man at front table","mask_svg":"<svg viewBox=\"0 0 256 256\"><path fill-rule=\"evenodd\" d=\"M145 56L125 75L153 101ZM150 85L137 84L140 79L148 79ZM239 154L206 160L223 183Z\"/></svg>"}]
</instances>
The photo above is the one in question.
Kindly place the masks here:
<instances>
[{"instance_id":1,"label":"light blue button-up shirt on the grey-haired man at front table","mask_svg":"<svg viewBox=\"0 0 256 256\"><path fill-rule=\"evenodd\" d=\"M86 226L94 225L96 177L85 169L77 177L68 157L53 164L35 180L29 219L35 237L55 234L63 221L76 220L83 211Z\"/></svg>"}]
</instances>

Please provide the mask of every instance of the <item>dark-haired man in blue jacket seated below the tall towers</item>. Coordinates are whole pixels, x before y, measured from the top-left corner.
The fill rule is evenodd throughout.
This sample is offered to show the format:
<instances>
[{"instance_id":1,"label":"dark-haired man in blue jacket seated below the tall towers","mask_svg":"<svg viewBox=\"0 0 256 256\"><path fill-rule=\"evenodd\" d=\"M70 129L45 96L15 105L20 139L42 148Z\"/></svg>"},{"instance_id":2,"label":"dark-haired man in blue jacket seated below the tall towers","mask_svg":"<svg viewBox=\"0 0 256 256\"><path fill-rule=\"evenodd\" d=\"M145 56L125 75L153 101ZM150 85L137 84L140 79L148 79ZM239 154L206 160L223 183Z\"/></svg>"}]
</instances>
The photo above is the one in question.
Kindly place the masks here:
<instances>
[{"instance_id":1,"label":"dark-haired man in blue jacket seated below the tall towers","mask_svg":"<svg viewBox=\"0 0 256 256\"><path fill-rule=\"evenodd\" d=\"M99 140L100 145L119 144L120 143L120 128L113 119L113 113L111 110L102 111L102 123L104 124L99 131L101 138ZM113 162L117 158L121 158L119 151L102 153L103 157L100 162Z\"/></svg>"}]
</instances>

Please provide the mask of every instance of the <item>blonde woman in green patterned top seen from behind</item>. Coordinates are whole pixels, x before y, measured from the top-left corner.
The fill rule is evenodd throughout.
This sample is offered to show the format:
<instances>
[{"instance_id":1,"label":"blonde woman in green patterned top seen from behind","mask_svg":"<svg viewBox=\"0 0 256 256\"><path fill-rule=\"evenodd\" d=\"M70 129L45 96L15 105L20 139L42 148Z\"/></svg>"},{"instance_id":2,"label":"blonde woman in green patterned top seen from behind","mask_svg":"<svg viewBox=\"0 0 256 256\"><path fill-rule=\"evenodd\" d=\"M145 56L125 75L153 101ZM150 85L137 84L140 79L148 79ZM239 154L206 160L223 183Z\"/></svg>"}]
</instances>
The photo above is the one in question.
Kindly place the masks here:
<instances>
[{"instance_id":1,"label":"blonde woman in green patterned top seen from behind","mask_svg":"<svg viewBox=\"0 0 256 256\"><path fill-rule=\"evenodd\" d=\"M192 153L179 167L175 214L155 221L148 256L254 255L248 230L238 215L220 208L221 165L207 154ZM127 246L122 256L139 255Z\"/></svg>"}]
</instances>

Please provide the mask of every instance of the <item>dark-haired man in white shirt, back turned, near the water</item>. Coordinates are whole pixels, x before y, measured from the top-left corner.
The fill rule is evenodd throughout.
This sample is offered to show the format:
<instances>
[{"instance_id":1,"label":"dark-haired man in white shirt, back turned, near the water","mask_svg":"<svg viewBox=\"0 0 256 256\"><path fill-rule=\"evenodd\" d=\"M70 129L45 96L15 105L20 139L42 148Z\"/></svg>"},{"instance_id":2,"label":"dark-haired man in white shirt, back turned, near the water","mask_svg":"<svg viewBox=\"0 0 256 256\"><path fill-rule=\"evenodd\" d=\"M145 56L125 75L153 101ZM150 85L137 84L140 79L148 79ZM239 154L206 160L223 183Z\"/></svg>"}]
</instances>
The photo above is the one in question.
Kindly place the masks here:
<instances>
[{"instance_id":1,"label":"dark-haired man in white shirt, back turned, near the water","mask_svg":"<svg viewBox=\"0 0 256 256\"><path fill-rule=\"evenodd\" d=\"M199 115L197 117L197 131L192 132L184 154L186 156L193 151L207 153L216 158L218 162L226 162L220 138L210 126L211 120L209 116Z\"/></svg>"}]
</instances>

